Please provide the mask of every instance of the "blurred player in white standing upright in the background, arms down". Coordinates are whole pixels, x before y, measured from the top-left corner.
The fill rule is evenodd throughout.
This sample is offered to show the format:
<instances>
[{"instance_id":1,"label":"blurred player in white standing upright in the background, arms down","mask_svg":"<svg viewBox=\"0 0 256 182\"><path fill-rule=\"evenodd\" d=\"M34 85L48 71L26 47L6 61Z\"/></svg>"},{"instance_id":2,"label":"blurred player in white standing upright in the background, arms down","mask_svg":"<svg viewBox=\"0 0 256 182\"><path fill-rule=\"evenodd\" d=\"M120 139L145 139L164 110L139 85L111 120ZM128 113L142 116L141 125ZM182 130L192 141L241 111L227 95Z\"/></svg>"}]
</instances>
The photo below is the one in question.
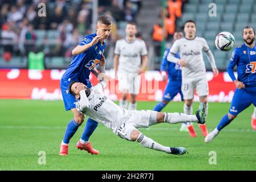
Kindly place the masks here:
<instances>
[{"instance_id":1,"label":"blurred player in white standing upright in the background, arms down","mask_svg":"<svg viewBox=\"0 0 256 182\"><path fill-rule=\"evenodd\" d=\"M131 94L129 110L136 110L136 97L141 85L141 73L147 65L147 48L143 40L137 39L136 24L128 22L126 38L118 40L114 50L114 71L122 92L119 105L126 109L127 93Z\"/></svg>"}]
</instances>

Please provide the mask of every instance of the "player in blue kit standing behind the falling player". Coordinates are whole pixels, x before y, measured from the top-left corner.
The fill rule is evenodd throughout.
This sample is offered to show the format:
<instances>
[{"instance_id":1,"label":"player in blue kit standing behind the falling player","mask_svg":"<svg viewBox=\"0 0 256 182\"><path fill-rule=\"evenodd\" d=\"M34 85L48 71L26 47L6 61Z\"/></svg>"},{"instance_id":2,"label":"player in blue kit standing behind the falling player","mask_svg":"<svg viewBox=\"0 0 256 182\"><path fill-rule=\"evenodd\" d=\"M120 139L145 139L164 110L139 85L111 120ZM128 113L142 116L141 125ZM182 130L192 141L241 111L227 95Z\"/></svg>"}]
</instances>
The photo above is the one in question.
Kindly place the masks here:
<instances>
[{"instance_id":1,"label":"player in blue kit standing behind the falling player","mask_svg":"<svg viewBox=\"0 0 256 182\"><path fill-rule=\"evenodd\" d=\"M105 72L105 57L103 55L106 47L106 39L112 30L112 22L109 16L102 15L98 18L96 26L96 34L86 35L80 44L73 49L74 55L71 64L65 71L60 81L60 89L65 105L65 110L72 110L73 119L68 123L64 138L60 144L60 155L68 155L69 140L76 133L79 126L84 122L84 114L81 114L76 109L76 98L69 93L68 86L72 81L82 82L88 88L92 87L89 81L90 72L93 72L98 77L99 73L96 70L98 66L100 72ZM80 150L86 150L91 154L98 154L88 142L90 135L98 126L98 123L92 119L88 119L85 125L81 139L77 142L76 147Z\"/></svg>"}]
</instances>

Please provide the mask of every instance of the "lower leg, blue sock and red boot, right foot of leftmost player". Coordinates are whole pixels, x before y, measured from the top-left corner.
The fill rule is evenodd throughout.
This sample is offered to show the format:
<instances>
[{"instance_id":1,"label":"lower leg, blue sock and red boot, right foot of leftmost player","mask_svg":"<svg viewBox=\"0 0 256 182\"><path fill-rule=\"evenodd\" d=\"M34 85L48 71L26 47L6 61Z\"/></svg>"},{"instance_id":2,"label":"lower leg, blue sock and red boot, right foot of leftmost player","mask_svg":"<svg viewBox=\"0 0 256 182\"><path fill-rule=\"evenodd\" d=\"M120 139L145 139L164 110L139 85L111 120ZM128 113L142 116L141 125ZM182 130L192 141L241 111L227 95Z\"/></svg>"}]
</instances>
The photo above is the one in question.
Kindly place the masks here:
<instances>
[{"instance_id":1,"label":"lower leg, blue sock and red boot, right foot of leftmost player","mask_svg":"<svg viewBox=\"0 0 256 182\"><path fill-rule=\"evenodd\" d=\"M93 131L98 126L98 123L93 119L88 118L86 125L84 127L84 132L82 133L81 139L77 142L76 147L80 150L86 150L90 154L99 154L89 142L89 137L92 135Z\"/></svg>"}]
</instances>

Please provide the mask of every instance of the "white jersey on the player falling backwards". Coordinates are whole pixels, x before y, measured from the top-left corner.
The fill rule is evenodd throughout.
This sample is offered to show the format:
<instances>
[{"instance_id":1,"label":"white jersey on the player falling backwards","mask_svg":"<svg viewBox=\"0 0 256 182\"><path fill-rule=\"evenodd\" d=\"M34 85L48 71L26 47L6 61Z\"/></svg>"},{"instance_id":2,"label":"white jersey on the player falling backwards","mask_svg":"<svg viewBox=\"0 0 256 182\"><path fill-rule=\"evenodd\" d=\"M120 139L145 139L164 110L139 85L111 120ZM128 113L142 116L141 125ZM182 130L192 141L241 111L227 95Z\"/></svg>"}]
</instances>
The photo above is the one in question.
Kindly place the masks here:
<instances>
[{"instance_id":1,"label":"white jersey on the player falling backwards","mask_svg":"<svg viewBox=\"0 0 256 182\"><path fill-rule=\"evenodd\" d=\"M76 102L76 109L79 113L85 114L89 118L100 122L102 125L116 133L119 126L129 121L131 113L130 111L116 105L112 100L105 96L103 93L103 87L104 86L102 86L101 83L98 83L90 89L90 94L88 96L89 107L86 111L81 111L80 100Z\"/></svg>"}]
</instances>

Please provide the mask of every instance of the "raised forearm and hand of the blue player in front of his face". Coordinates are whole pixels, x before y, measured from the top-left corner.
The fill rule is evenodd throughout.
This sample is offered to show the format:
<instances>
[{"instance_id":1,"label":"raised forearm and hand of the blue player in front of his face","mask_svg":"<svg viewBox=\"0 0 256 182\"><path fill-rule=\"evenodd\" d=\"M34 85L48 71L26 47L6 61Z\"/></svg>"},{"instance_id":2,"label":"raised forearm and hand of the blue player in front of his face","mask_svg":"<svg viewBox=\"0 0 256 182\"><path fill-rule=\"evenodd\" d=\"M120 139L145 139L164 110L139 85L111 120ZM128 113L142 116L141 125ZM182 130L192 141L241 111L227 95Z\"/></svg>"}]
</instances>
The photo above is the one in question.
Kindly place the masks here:
<instances>
[{"instance_id":1,"label":"raised forearm and hand of the blue player in front of his face","mask_svg":"<svg viewBox=\"0 0 256 182\"><path fill-rule=\"evenodd\" d=\"M72 50L72 55L79 55L80 53L86 51L90 47L97 44L101 38L102 36L97 35L92 39L92 41L86 42L86 40L82 40L82 42Z\"/></svg>"}]
</instances>

